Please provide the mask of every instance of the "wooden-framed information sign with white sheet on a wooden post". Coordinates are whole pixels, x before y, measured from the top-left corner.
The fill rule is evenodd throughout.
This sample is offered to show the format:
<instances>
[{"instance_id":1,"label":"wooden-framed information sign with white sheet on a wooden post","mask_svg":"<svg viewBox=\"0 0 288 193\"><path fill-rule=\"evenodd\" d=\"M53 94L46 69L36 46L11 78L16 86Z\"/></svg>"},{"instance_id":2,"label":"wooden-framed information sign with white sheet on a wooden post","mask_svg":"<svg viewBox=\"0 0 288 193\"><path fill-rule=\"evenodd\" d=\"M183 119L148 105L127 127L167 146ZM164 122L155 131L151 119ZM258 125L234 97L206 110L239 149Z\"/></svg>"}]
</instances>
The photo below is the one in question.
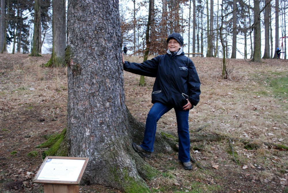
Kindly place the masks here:
<instances>
[{"instance_id":1,"label":"wooden-framed information sign with white sheet on a wooden post","mask_svg":"<svg viewBox=\"0 0 288 193\"><path fill-rule=\"evenodd\" d=\"M89 158L47 156L33 183L43 183L44 193L78 193Z\"/></svg>"}]
</instances>

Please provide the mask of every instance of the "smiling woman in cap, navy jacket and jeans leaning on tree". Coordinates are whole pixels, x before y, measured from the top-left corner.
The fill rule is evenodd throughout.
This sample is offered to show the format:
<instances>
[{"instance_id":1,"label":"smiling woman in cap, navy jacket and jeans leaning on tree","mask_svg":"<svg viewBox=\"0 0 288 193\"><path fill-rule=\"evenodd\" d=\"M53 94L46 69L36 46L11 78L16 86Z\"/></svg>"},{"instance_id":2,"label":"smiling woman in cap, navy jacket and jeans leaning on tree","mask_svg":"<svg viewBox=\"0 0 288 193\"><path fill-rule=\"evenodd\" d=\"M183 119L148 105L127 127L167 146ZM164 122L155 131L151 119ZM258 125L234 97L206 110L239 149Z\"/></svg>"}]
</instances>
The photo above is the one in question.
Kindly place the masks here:
<instances>
[{"instance_id":1,"label":"smiling woman in cap, navy jacket and jeans leaning on tree","mask_svg":"<svg viewBox=\"0 0 288 193\"><path fill-rule=\"evenodd\" d=\"M153 106L147 115L144 138L140 145L133 143L133 148L149 158L154 151L157 121L174 108L179 136L178 159L185 170L191 170L188 115L189 110L199 102L200 80L193 62L184 55L182 36L179 33L170 34L167 44L165 55L143 63L130 63L122 58L124 70L156 77L152 91Z\"/></svg>"}]
</instances>

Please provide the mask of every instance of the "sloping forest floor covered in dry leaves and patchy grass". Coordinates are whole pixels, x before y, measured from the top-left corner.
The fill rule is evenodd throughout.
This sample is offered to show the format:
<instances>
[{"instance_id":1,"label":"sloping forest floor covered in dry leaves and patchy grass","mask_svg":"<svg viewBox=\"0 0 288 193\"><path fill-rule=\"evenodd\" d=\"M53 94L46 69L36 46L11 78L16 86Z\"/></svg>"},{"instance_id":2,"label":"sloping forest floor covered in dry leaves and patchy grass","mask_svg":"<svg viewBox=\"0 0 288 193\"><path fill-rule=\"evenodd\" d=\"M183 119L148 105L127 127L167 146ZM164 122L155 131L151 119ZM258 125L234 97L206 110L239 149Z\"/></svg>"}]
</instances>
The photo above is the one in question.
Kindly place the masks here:
<instances>
[{"instance_id":1,"label":"sloping forest floor covered in dry leaves and patchy grass","mask_svg":"<svg viewBox=\"0 0 288 193\"><path fill-rule=\"evenodd\" d=\"M45 148L35 146L46 140L45 135L60 133L67 126L67 69L43 67L50 57L0 54L0 192L43 192L43 185L32 180L43 162L41 153ZM230 80L220 78L221 59L192 60L202 93L199 104L190 111L191 135L217 134L225 138L193 142L191 145L198 150L191 149L191 155L198 165L193 164L190 171L183 170L177 152L145 158L163 172L146 181L151 191L288 192L287 60L226 60ZM124 72L125 100L132 115L145 123L152 106L154 78L146 77L144 87L139 87L139 78ZM173 110L159 120L157 131L161 130L177 134ZM259 146L245 149L243 140ZM80 186L80 192L121 191L90 185Z\"/></svg>"}]
</instances>

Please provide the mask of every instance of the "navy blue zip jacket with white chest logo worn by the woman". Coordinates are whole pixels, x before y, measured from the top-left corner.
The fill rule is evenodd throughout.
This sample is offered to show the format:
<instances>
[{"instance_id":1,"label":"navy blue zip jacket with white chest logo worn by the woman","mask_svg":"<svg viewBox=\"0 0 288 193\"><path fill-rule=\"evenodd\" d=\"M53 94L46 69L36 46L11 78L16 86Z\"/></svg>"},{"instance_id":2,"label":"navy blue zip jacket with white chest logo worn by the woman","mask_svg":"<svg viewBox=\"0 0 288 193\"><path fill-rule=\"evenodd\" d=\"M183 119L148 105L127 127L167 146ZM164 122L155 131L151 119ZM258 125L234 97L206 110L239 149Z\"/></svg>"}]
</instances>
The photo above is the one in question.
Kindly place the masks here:
<instances>
[{"instance_id":1,"label":"navy blue zip jacket with white chest logo worn by the woman","mask_svg":"<svg viewBox=\"0 0 288 193\"><path fill-rule=\"evenodd\" d=\"M181 55L159 55L143 63L125 61L124 70L143 76L156 77L152 103L162 102L183 110L188 99L193 106L199 102L200 80L192 60Z\"/></svg>"}]
</instances>

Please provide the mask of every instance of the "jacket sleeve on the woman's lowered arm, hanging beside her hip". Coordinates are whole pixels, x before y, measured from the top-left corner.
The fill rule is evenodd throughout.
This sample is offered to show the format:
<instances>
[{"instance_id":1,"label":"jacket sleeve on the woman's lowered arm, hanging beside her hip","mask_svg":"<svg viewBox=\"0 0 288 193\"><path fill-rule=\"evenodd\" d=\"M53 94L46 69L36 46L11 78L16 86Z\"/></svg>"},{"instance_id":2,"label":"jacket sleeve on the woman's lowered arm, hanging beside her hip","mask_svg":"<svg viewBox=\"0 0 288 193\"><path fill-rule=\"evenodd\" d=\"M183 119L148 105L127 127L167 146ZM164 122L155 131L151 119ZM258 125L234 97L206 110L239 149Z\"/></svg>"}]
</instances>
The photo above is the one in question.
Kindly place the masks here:
<instances>
[{"instance_id":1,"label":"jacket sleeve on the woman's lowered arm, hanging beside her hip","mask_svg":"<svg viewBox=\"0 0 288 193\"><path fill-rule=\"evenodd\" d=\"M194 66L194 63L192 60L188 59L189 65L188 65L188 71L189 71L189 77L188 77L188 88L189 88L189 97L188 100L190 103L194 106L196 106L200 100L200 80L198 77L198 73L196 71L196 68Z\"/></svg>"}]
</instances>

